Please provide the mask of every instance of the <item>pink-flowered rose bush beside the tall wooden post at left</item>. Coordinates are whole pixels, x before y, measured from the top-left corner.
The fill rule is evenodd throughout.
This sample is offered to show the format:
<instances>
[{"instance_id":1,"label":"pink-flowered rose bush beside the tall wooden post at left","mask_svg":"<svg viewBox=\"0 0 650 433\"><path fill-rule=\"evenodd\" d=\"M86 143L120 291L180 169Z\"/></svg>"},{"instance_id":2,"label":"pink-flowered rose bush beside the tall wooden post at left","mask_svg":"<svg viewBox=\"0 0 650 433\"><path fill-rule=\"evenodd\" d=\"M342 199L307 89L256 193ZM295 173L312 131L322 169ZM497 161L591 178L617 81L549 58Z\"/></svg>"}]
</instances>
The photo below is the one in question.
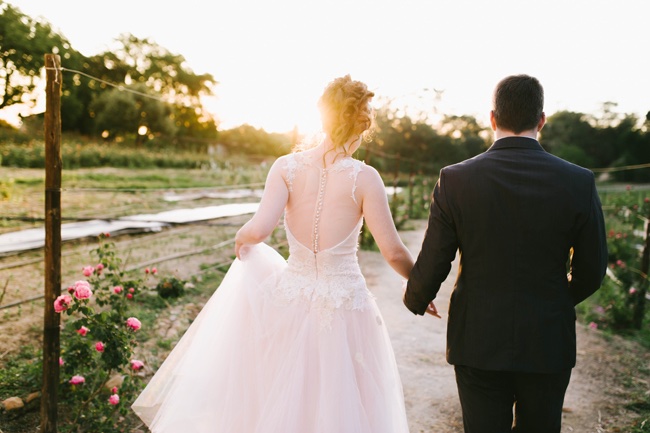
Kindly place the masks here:
<instances>
[{"instance_id":1,"label":"pink-flowered rose bush beside the tall wooden post at left","mask_svg":"<svg viewBox=\"0 0 650 433\"><path fill-rule=\"evenodd\" d=\"M55 311L64 315L59 395L67 422L61 424L62 432L122 431L120 424L142 389L144 363L133 359L142 323L131 310L145 284L127 279L107 235L99 237L92 254L97 264L81 268L86 279L54 302Z\"/></svg>"}]
</instances>

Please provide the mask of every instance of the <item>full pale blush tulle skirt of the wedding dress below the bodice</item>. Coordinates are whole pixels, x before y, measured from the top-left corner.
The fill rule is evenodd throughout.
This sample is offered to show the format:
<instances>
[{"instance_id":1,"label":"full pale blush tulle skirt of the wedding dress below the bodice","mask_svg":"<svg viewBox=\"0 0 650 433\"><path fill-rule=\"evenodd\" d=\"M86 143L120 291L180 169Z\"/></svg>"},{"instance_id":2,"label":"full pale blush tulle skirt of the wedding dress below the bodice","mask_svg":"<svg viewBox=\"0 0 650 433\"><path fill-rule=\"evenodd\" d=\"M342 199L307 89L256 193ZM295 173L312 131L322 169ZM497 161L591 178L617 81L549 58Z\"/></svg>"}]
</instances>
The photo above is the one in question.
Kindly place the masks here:
<instances>
[{"instance_id":1,"label":"full pale blush tulle skirt of the wedding dress below the bodice","mask_svg":"<svg viewBox=\"0 0 650 433\"><path fill-rule=\"evenodd\" d=\"M251 247L133 403L153 433L406 433L402 384L377 306L331 326L265 296L286 262Z\"/></svg>"}]
</instances>

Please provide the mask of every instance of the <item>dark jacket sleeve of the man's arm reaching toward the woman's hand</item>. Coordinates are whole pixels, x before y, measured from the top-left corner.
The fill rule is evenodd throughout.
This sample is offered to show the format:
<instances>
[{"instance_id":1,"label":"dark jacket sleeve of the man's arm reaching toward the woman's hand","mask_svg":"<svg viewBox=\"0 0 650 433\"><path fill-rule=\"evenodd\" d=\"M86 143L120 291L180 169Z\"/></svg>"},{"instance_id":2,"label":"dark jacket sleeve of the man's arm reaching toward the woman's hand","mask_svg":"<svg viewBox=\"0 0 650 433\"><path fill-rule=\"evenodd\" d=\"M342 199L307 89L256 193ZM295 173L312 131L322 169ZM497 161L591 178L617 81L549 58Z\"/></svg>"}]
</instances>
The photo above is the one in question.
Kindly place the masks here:
<instances>
[{"instance_id":1,"label":"dark jacket sleeve of the man's arm reaching toward the woman's hand","mask_svg":"<svg viewBox=\"0 0 650 433\"><path fill-rule=\"evenodd\" d=\"M445 193L445 170L433 190L429 223L422 248L409 275L404 304L415 314L424 314L447 278L458 250L456 226Z\"/></svg>"}]
</instances>

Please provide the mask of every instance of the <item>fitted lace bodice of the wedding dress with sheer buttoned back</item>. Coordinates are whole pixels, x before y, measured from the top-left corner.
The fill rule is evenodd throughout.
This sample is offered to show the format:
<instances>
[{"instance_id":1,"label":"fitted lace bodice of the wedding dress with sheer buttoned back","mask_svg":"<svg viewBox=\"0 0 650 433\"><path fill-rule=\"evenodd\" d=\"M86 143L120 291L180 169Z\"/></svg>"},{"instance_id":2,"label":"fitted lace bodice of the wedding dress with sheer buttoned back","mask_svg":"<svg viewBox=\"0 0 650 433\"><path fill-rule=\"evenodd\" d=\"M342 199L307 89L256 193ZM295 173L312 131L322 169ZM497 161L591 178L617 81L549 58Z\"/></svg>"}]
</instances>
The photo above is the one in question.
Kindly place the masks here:
<instances>
[{"instance_id":1,"label":"fitted lace bodice of the wedding dress with sheer buttoned back","mask_svg":"<svg viewBox=\"0 0 650 433\"><path fill-rule=\"evenodd\" d=\"M327 327L337 309L362 310L371 299L357 260L363 217L355 192L364 164L346 157L322 168L300 153L284 158L289 259L268 293L275 303L304 303Z\"/></svg>"}]
</instances>

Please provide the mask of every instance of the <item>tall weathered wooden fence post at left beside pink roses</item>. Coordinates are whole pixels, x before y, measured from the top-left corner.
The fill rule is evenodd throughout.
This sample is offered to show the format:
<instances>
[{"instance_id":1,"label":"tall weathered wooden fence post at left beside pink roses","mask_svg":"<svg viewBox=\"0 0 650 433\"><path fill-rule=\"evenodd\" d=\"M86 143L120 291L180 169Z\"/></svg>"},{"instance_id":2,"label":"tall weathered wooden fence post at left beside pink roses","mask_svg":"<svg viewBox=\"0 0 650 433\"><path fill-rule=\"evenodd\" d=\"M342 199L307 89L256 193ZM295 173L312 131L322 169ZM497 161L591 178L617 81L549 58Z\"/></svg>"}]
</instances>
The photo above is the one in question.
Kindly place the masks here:
<instances>
[{"instance_id":1,"label":"tall weathered wooden fence post at left beside pink roses","mask_svg":"<svg viewBox=\"0 0 650 433\"><path fill-rule=\"evenodd\" d=\"M56 433L61 317L54 301L61 294L61 59L45 55L45 308L41 433Z\"/></svg>"}]
</instances>

